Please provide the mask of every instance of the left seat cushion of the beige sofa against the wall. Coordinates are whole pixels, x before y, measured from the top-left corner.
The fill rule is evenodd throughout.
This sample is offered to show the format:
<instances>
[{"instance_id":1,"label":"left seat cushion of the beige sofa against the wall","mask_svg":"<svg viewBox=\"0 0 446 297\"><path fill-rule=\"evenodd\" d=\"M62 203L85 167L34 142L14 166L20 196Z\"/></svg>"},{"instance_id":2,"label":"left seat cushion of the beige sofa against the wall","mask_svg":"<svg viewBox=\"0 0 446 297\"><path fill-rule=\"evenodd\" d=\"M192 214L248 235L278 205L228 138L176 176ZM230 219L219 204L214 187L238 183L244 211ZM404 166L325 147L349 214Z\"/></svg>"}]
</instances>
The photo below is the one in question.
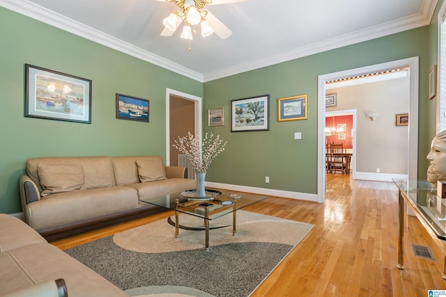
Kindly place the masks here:
<instances>
[{"instance_id":1,"label":"left seat cushion of the beige sofa against the wall","mask_svg":"<svg viewBox=\"0 0 446 297\"><path fill-rule=\"evenodd\" d=\"M47 195L28 204L27 209L29 224L40 231L135 209L138 205L134 188L111 186Z\"/></svg>"}]
</instances>

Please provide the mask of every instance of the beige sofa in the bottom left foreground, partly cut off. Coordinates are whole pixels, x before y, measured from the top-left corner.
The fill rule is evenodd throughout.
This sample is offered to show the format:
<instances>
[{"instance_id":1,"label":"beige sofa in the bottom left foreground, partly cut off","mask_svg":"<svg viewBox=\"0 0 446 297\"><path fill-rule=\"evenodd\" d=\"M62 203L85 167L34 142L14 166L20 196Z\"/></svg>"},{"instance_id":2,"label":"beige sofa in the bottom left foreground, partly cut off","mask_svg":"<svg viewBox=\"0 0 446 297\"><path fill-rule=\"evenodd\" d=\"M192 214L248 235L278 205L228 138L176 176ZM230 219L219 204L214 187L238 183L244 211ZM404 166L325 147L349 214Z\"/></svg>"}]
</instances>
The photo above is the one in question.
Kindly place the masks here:
<instances>
[{"instance_id":1,"label":"beige sofa in the bottom left foreground, partly cut off","mask_svg":"<svg viewBox=\"0 0 446 297\"><path fill-rule=\"evenodd\" d=\"M0 296L128 296L22 220L0 214L0 226Z\"/></svg>"}]
</instances>

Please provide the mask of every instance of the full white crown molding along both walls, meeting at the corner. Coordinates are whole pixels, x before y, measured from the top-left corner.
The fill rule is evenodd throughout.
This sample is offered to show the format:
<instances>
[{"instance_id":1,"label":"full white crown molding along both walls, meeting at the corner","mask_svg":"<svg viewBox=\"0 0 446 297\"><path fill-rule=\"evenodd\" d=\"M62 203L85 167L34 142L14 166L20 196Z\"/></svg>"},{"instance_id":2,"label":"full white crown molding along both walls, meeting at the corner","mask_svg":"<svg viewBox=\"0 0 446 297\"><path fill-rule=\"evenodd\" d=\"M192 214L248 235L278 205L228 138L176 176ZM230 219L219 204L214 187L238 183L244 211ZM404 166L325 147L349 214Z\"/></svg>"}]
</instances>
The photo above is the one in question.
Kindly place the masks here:
<instances>
[{"instance_id":1,"label":"full white crown molding along both walls, meeting at the corner","mask_svg":"<svg viewBox=\"0 0 446 297\"><path fill-rule=\"evenodd\" d=\"M337 36L329 40L316 42L312 45L292 49L290 51L284 51L279 54L261 58L254 62L243 63L226 69L217 70L206 74L201 74L190 70L189 68L178 65L165 58L152 54L149 51L130 45L128 42L114 38L111 35L102 33L89 26L76 22L68 17L54 13L51 10L47 10L41 6L31 3L26 0L0 0L0 6L13 10L16 13L26 15L33 19L37 19L40 22L55 26L56 28L68 31L70 33L79 35L83 38L89 39L93 42L97 42L100 45L105 45L117 51L121 51L130 56L140 58L148 63L153 63L167 70L171 70L178 74L182 74L185 77L194 79L199 82L212 81L214 79L220 79L222 77L229 77L233 74L247 72L249 70L266 67L269 65L275 65L286 61L291 61L304 56L321 53L330 49L337 49L346 45L353 45L358 42L364 42L374 38L380 38L385 35L399 33L402 31L415 29L420 26L426 26L431 23L433 11L436 8L437 0L424 0L420 13L411 15L410 17L403 17L393 22L388 22L379 26L374 26L368 29L356 31L350 34Z\"/></svg>"}]
</instances>

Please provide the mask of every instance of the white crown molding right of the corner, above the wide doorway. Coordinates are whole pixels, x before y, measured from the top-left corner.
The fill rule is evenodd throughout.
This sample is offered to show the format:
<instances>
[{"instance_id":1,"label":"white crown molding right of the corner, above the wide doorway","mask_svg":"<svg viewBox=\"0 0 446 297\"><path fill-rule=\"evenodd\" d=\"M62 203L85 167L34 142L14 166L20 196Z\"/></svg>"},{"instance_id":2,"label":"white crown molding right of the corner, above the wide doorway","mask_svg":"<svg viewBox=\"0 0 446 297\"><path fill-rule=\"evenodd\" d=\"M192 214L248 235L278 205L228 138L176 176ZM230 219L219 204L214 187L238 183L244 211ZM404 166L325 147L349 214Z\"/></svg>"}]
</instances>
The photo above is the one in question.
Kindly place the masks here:
<instances>
[{"instance_id":1,"label":"white crown molding right of the corner, above the wide doorway","mask_svg":"<svg viewBox=\"0 0 446 297\"><path fill-rule=\"evenodd\" d=\"M417 13L415 15L403 17L393 22L387 22L386 24L373 26L368 29L356 31L346 35L341 35L329 40L316 42L312 45L306 45L305 47L299 47L297 49L291 49L290 51L284 51L282 53L268 56L266 58L261 58L256 61L243 63L216 72L203 74L203 81L213 81L215 79L229 77L234 74L256 70L261 67L295 60L297 58L310 56L312 54L318 54L323 51L329 51L330 49L337 49L339 47L345 47L347 45L354 45L355 43L380 38L386 35L399 33L410 29L415 29L421 26L427 26L431 23L436 4L437 0L426 0L423 1L423 6L420 13Z\"/></svg>"}]
</instances>

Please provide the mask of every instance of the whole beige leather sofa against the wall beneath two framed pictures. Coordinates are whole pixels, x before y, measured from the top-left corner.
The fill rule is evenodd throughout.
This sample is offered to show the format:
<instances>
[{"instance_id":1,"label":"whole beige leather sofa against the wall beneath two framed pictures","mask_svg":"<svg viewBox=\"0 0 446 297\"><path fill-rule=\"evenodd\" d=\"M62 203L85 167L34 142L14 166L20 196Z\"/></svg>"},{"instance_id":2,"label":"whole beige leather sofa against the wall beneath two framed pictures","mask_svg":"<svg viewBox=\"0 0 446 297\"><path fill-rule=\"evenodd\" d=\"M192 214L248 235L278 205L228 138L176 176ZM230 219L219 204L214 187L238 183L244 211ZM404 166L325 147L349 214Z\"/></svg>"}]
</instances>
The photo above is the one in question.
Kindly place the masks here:
<instances>
[{"instance_id":1,"label":"whole beige leather sofa against the wall beneath two framed pictures","mask_svg":"<svg viewBox=\"0 0 446 297\"><path fill-rule=\"evenodd\" d=\"M29 159L20 177L26 223L52 241L162 211L141 200L195 188L161 156Z\"/></svg>"}]
</instances>

